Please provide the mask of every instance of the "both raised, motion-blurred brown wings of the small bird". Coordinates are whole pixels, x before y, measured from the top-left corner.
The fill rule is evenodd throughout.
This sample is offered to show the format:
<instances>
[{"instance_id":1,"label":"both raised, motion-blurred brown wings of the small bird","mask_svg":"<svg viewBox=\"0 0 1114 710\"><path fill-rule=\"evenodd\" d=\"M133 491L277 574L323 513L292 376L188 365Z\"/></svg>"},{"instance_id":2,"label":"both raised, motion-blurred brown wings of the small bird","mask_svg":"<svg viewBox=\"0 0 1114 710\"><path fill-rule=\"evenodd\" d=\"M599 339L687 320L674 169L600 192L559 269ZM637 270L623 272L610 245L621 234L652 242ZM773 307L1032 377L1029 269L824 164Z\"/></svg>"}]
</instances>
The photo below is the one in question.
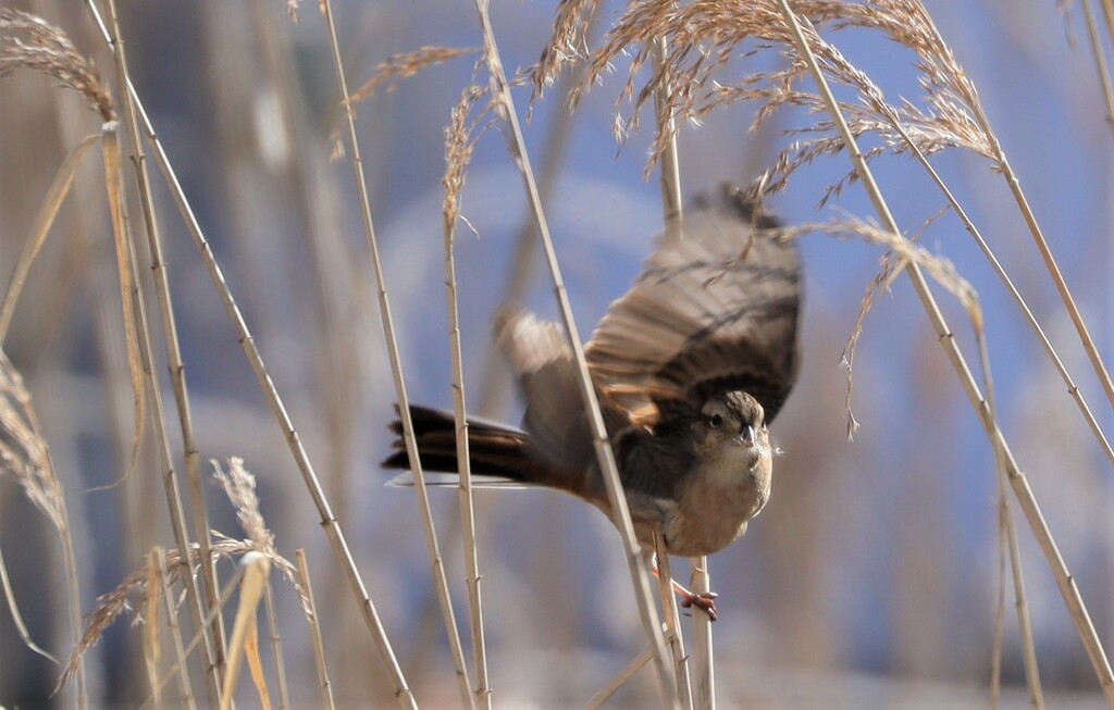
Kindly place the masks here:
<instances>
[{"instance_id":1,"label":"both raised, motion-blurred brown wings of the small bird","mask_svg":"<svg viewBox=\"0 0 1114 710\"><path fill-rule=\"evenodd\" d=\"M586 347L613 437L694 393L745 389L773 420L795 375L800 302L795 246L762 231L773 226L725 189L686 213L682 234L662 236ZM592 430L564 329L506 312L496 336L521 381L531 446L567 470L589 465Z\"/></svg>"}]
</instances>

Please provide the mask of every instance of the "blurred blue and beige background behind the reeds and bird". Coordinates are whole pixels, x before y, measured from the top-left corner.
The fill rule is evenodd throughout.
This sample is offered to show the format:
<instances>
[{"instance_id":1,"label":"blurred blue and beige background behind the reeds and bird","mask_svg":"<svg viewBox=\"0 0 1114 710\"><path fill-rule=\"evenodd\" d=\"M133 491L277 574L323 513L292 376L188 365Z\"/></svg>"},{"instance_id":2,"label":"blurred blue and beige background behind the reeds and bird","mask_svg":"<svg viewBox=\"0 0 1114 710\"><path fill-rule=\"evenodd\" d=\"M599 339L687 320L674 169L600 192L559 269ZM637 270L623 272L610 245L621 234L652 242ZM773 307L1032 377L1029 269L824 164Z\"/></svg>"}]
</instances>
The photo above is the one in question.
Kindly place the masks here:
<instances>
[{"instance_id":1,"label":"blurred blue and beige background behind the reeds and bird","mask_svg":"<svg viewBox=\"0 0 1114 710\"><path fill-rule=\"evenodd\" d=\"M84 3L7 0L65 29L115 85L111 57ZM1111 329L1112 134L1079 9L1045 2L928 2L978 88L1006 155L1104 355ZM340 95L316 3L299 21L275 1L118 2L137 92L244 312L278 392L322 477L419 702L456 703L452 664L432 591L413 491L384 487L385 425L394 389L378 289L352 168L330 161ZM593 42L616 17L605 4ZM481 43L468 2L334 3L352 88L393 53ZM534 63L549 39L551 2L496 2L508 71ZM908 50L878 34L830 37L891 100L917 99ZM451 406L444 293L442 131L473 73L475 57L432 67L359 107L359 134L390 303L412 401ZM746 63L753 62L753 63ZM762 55L743 70L772 69ZM662 228L657 174L644 176L646 130L616 142L625 67L569 115L564 87L534 106L526 140L544 178L546 208L583 334L637 274ZM528 89L516 90L520 112ZM622 106L624 117L628 106ZM745 183L786 145L786 111L749 131L739 105L681 131L681 177L695 195ZM0 81L0 278L10 269L70 147L99 130L70 91L29 71ZM35 397L74 526L82 612L170 546L158 457L145 446L119 486L131 435L119 290L101 168L89 161L36 263L4 349ZM981 158L944 152L934 165L975 221L1059 348L1105 431L1114 417L1086 363L1005 183ZM944 207L905 158L874 162L903 229L919 231ZM825 186L849 169L820 160L794 174L771 206L788 223L872 215L858 185L818 211ZM282 432L225 316L165 186L164 228L175 314L202 458L243 456L258 477L262 511L278 551L309 554L334 692L342 707L390 706L391 690ZM520 178L497 128L479 140L462 197L475 227L458 230L462 347L469 408L517 422L521 403L489 342L491 314L509 284L556 316L540 255L519 257L529 225ZM138 209L134 209L138 215ZM532 233L528 233L532 239ZM1112 475L1037 339L961 225L941 217L921 244L951 259L978 289L1003 428L1088 604L1101 639L1114 639ZM882 256L877 247L812 236L801 243L803 367L772 431L784 454L773 495L747 534L712 558L720 592L714 625L721 707L954 707L989 703L998 541L994 453L905 279L879 298L854 361L851 397L860 428L847 437L841 354ZM140 257L141 259L144 257ZM146 264L146 262L144 262ZM141 269L147 278L149 270ZM148 287L150 284L145 284ZM964 310L938 289L965 352ZM152 302L153 303L153 302ZM159 372L165 351L156 347ZM164 376L168 410L169 379ZM180 456L180 437L172 432ZM149 438L149 435L148 435ZM180 461L180 458L179 458ZM206 466L207 469L207 466ZM243 536L223 492L206 485L213 529ZM432 495L441 552L467 634L458 503ZM597 511L549 492L485 492L477 499L486 635L500 707L576 707L643 644L618 539ZM1020 516L1019 541L1042 679L1056 707L1101 707L1083 645ZM0 475L0 549L32 638L65 658L65 578L58 538L10 477ZM223 563L227 565L227 563ZM682 561L675 572L686 579ZM227 574L231 568L222 566ZM296 599L276 584L295 704L317 702L312 650ZM1007 591L1007 707L1024 707L1013 591ZM138 707L148 694L140 632L126 621L88 655L95 707ZM466 648L467 635L466 635ZM47 700L59 669L31 653L0 611L0 706ZM246 684L246 683L245 683ZM644 670L614 707L653 700ZM254 691L242 689L245 706Z\"/></svg>"}]
</instances>

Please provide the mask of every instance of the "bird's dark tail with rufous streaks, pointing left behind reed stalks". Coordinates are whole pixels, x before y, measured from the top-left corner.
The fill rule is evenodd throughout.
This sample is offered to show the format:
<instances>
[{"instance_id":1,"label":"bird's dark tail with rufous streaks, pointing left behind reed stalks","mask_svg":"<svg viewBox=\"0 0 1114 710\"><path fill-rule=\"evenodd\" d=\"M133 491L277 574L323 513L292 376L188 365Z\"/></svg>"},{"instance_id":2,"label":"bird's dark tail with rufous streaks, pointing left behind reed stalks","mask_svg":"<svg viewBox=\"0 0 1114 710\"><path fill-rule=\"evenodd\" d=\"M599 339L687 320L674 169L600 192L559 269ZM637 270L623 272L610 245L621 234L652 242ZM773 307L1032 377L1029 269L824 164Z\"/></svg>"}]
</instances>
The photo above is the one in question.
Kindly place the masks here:
<instances>
[{"instance_id":1,"label":"bird's dark tail with rufous streaks, pointing left behind reed stalks","mask_svg":"<svg viewBox=\"0 0 1114 710\"><path fill-rule=\"evenodd\" d=\"M429 407L410 405L418 455L422 471L456 474L457 430L452 414ZM402 422L391 422L398 437L392 443L394 453L388 456L384 469L411 469L402 440ZM525 432L478 420L468 421L468 453L471 472L494 476L495 481L555 485L555 472L530 453L529 437ZM405 484L409 481L401 481ZM494 482L491 479L488 483ZM558 487L565 487L558 485Z\"/></svg>"}]
</instances>

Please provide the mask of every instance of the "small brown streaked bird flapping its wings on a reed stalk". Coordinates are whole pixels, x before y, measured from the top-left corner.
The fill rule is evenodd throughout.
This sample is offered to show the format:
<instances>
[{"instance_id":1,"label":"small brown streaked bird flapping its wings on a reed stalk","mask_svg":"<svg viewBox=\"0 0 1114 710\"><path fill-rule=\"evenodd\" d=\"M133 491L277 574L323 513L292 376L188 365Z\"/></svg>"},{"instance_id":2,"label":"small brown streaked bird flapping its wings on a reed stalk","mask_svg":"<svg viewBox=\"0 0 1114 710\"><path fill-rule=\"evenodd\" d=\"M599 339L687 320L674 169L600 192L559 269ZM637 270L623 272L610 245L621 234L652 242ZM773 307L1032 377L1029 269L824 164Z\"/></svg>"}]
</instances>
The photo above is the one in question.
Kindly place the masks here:
<instances>
[{"instance_id":1,"label":"small brown streaked bird flapping its wings on a reed stalk","mask_svg":"<svg viewBox=\"0 0 1114 710\"><path fill-rule=\"evenodd\" d=\"M742 535L770 499L769 425L799 369L801 265L743 190L698 196L657 239L585 345L638 542L698 556ZM526 400L521 428L469 417L473 474L570 493L610 517L564 328L509 308L495 337ZM451 413L410 406L424 471L457 473ZM388 469L410 469L402 424ZM407 474L403 474L407 475ZM680 590L678 590L680 591ZM715 595L682 591L714 619Z\"/></svg>"}]
</instances>

